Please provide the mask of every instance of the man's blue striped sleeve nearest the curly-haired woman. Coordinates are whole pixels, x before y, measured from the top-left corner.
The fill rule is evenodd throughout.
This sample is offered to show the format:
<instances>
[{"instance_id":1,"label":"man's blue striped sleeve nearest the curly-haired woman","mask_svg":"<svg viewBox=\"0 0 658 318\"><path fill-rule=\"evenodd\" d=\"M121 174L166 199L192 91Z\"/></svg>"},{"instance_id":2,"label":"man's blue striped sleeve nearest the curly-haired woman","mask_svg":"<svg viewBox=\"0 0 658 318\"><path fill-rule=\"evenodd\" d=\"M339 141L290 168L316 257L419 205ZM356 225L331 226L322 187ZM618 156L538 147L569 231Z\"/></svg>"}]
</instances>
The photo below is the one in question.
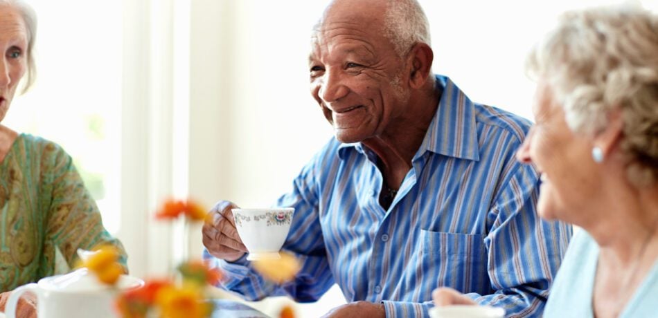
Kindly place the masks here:
<instances>
[{"instance_id":1,"label":"man's blue striped sleeve nearest the curly-haired woman","mask_svg":"<svg viewBox=\"0 0 658 318\"><path fill-rule=\"evenodd\" d=\"M537 172L517 162L512 167L488 214L491 226L484 239L495 293L466 295L477 303L504 308L506 317L540 317L572 229L537 215Z\"/></svg>"}]
</instances>

